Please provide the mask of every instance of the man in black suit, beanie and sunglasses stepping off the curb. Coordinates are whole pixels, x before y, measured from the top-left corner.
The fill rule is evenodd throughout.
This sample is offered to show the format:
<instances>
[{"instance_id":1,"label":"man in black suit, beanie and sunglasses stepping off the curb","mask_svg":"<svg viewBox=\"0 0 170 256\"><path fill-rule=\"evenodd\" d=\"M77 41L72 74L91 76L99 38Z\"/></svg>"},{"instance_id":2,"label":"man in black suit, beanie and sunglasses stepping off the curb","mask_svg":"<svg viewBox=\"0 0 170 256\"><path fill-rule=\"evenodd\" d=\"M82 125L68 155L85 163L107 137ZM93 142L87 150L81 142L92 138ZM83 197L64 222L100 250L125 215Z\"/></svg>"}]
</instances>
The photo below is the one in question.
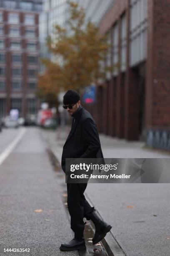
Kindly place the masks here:
<instances>
[{"instance_id":1,"label":"man in black suit, beanie and sunglasses stepping off the curb","mask_svg":"<svg viewBox=\"0 0 170 256\"><path fill-rule=\"evenodd\" d=\"M71 131L63 146L62 169L65 172L66 158L103 158L97 127L90 113L80 105L80 95L68 90L63 97L63 108L73 117ZM95 225L93 244L98 243L112 228L96 215L84 196L87 183L67 183L67 206L71 217L71 229L75 236L60 246L62 251L86 250L83 237L83 218Z\"/></svg>"}]
</instances>

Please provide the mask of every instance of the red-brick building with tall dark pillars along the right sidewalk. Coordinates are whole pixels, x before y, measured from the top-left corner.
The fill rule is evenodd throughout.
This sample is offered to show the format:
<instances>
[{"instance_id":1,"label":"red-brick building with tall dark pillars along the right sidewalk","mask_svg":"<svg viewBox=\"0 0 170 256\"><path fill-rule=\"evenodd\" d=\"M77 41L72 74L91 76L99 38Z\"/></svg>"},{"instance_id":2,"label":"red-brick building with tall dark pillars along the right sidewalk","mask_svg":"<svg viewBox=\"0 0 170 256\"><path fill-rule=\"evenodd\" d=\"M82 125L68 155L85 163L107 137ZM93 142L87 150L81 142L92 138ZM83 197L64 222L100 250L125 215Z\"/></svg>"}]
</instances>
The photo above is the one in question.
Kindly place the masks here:
<instances>
[{"instance_id":1,"label":"red-brick building with tall dark pillars along the right sidewalk","mask_svg":"<svg viewBox=\"0 0 170 256\"><path fill-rule=\"evenodd\" d=\"M106 64L120 63L86 104L101 133L170 149L170 0L82 1L111 49ZM93 3L92 3L93 2Z\"/></svg>"}]
</instances>

